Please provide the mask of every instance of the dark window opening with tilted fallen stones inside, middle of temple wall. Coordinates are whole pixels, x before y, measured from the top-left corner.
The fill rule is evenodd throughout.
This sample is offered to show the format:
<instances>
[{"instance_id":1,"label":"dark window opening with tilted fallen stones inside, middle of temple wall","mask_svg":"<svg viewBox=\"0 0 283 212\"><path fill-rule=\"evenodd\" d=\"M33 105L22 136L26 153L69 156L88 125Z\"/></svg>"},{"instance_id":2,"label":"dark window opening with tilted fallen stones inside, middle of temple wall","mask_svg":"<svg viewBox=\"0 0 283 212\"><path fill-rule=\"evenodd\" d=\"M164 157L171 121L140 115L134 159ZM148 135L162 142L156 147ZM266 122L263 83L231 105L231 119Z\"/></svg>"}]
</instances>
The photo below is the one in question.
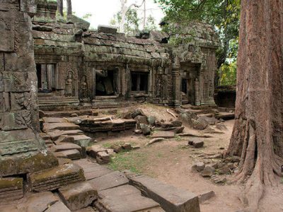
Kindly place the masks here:
<instances>
[{"instance_id":1,"label":"dark window opening with tilted fallen stones inside, middle of temple wall","mask_svg":"<svg viewBox=\"0 0 283 212\"><path fill-rule=\"evenodd\" d=\"M117 70L96 70L96 96L117 95L118 80Z\"/></svg>"}]
</instances>

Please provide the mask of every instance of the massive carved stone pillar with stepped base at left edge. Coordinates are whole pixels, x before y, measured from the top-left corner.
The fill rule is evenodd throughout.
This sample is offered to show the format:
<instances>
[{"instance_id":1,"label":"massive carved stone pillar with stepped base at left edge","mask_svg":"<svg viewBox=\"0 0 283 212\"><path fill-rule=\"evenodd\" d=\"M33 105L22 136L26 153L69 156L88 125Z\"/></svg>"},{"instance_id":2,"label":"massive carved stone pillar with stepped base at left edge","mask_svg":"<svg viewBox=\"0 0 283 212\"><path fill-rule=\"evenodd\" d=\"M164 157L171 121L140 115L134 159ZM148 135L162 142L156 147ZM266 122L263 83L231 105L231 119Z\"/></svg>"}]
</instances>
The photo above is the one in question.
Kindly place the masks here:
<instances>
[{"instance_id":1,"label":"massive carved stone pillar with stepped base at left edge","mask_svg":"<svg viewBox=\"0 0 283 212\"><path fill-rule=\"evenodd\" d=\"M35 12L35 1L5 2L0 1L0 178L58 165L37 134L37 76L29 16Z\"/></svg>"}]
</instances>

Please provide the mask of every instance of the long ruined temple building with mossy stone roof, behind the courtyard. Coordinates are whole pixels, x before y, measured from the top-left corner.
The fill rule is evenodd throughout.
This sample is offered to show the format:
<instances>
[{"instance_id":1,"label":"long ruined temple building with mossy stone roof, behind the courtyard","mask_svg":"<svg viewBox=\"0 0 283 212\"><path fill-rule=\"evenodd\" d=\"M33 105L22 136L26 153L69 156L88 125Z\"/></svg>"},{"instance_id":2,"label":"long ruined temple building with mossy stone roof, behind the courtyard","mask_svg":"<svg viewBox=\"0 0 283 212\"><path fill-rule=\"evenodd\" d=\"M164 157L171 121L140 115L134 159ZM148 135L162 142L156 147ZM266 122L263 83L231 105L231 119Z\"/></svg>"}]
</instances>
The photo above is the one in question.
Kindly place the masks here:
<instances>
[{"instance_id":1,"label":"long ruined temple building with mossy stone roof, behind the courtyard","mask_svg":"<svg viewBox=\"0 0 283 212\"><path fill-rule=\"evenodd\" d=\"M166 36L126 37L115 28L88 30L79 18L56 22L56 3L40 1L33 17L40 107L109 107L143 101L180 106L215 105L212 27L195 25L195 42L178 47Z\"/></svg>"}]
</instances>

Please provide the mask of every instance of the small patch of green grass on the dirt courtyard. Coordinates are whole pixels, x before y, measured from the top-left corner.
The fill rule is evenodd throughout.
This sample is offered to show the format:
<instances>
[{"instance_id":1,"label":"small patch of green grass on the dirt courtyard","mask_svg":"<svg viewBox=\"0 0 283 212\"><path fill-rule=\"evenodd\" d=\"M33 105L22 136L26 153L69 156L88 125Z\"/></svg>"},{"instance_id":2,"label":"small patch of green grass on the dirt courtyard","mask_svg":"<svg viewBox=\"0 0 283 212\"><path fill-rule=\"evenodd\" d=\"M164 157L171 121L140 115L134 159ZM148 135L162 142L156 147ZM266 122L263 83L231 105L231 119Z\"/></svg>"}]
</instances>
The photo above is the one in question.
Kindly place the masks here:
<instances>
[{"instance_id":1,"label":"small patch of green grass on the dirt courtyard","mask_svg":"<svg viewBox=\"0 0 283 212\"><path fill-rule=\"evenodd\" d=\"M112 170L130 170L135 173L141 173L141 168L146 163L146 154L135 151L118 153L112 157L108 165Z\"/></svg>"}]
</instances>

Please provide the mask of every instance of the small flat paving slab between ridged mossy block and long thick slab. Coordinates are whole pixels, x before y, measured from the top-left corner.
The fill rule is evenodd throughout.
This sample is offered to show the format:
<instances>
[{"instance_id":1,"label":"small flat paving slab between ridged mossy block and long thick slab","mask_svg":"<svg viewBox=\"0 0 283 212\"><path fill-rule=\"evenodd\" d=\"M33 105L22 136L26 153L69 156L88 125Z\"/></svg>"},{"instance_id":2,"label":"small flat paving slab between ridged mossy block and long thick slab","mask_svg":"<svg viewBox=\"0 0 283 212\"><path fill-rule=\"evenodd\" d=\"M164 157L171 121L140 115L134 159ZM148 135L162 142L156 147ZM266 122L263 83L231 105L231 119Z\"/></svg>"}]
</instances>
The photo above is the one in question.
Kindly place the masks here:
<instances>
[{"instance_id":1,"label":"small flat paving slab between ridged mossy block and long thick slab","mask_svg":"<svg viewBox=\"0 0 283 212\"><path fill-rule=\"evenodd\" d=\"M115 171L107 175L103 175L101 177L91 179L88 182L91 183L93 189L96 189L97 191L101 191L105 189L119 187L124 184L128 184L129 179L127 179L127 177L121 172Z\"/></svg>"}]
</instances>

